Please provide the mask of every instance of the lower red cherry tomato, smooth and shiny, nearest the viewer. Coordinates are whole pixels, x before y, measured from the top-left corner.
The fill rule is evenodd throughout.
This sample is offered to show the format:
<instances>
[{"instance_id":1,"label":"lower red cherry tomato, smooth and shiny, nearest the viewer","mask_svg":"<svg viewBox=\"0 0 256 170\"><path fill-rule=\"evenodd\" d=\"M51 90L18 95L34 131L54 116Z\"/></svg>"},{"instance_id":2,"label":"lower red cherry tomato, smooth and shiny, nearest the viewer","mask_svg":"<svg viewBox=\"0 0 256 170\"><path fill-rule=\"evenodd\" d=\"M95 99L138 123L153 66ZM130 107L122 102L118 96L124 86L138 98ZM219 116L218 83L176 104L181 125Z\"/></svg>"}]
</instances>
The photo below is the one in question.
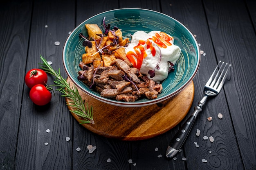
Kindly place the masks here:
<instances>
[{"instance_id":1,"label":"lower red cherry tomato, smooth and shiny, nearest the viewer","mask_svg":"<svg viewBox=\"0 0 256 170\"><path fill-rule=\"evenodd\" d=\"M29 92L29 97L36 105L43 106L52 99L52 93L44 85L34 85Z\"/></svg>"}]
</instances>

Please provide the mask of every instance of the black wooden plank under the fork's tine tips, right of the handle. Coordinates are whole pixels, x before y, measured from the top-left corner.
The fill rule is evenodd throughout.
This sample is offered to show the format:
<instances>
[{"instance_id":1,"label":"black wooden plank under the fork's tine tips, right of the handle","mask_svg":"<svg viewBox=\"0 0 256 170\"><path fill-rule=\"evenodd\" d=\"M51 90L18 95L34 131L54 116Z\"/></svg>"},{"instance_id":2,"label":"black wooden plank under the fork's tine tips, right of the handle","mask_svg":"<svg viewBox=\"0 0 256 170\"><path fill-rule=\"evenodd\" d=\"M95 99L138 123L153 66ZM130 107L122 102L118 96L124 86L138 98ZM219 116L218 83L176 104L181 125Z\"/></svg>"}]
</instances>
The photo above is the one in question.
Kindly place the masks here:
<instances>
[{"instance_id":1,"label":"black wooden plank under the fork's tine tips, right of the handle","mask_svg":"<svg viewBox=\"0 0 256 170\"><path fill-rule=\"evenodd\" d=\"M233 65L225 94L243 164L245 169L253 169L256 168L256 132L252 121L256 118L255 29L242 0L205 1L205 9L216 56Z\"/></svg>"}]
</instances>

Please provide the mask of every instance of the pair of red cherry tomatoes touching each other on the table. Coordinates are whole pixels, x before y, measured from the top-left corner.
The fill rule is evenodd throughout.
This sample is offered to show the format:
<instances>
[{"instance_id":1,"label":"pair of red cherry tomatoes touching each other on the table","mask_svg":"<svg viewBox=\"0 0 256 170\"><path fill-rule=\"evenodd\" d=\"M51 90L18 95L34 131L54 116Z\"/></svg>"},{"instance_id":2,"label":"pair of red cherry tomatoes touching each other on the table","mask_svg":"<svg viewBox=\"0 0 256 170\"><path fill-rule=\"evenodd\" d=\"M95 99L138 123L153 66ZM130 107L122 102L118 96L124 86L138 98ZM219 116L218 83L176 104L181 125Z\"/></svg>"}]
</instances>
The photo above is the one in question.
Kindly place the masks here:
<instances>
[{"instance_id":1,"label":"pair of red cherry tomatoes touching each other on the table","mask_svg":"<svg viewBox=\"0 0 256 170\"><path fill-rule=\"evenodd\" d=\"M47 87L47 74L41 69L31 69L25 76L25 83L30 88L29 97L36 105L43 106L50 102L52 94Z\"/></svg>"}]
</instances>

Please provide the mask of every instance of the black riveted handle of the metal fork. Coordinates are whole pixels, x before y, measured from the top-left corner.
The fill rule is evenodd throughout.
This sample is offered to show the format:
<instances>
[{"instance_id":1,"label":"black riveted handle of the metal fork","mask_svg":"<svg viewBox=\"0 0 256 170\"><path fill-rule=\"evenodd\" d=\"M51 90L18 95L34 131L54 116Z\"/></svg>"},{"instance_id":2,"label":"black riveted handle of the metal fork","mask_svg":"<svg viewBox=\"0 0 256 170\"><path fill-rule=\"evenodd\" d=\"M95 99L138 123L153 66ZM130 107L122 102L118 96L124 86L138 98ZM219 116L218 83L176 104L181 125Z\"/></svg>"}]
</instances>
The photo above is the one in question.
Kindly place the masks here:
<instances>
[{"instance_id":1,"label":"black riveted handle of the metal fork","mask_svg":"<svg viewBox=\"0 0 256 170\"><path fill-rule=\"evenodd\" d=\"M196 106L193 114L189 116L189 118L186 120L186 122L184 122L179 131L177 131L177 133L175 134L175 136L173 137L173 139L171 140L170 144L167 147L167 158L172 158L178 153L178 151L184 144L186 138L188 137L189 132L191 131L192 126L195 122L195 118L197 117L200 111L202 111L202 107L200 107L200 105Z\"/></svg>"}]
</instances>

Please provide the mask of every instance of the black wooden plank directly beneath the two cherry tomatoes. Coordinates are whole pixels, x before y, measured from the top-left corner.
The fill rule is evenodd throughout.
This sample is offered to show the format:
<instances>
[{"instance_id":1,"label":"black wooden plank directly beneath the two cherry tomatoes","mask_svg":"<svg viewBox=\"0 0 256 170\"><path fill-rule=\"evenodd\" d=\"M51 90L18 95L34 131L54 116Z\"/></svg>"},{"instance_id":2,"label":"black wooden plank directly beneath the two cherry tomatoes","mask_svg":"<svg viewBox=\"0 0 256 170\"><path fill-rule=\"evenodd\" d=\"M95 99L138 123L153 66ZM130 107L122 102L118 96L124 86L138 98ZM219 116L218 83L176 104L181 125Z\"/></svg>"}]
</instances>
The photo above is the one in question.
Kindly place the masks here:
<instances>
[{"instance_id":1,"label":"black wooden plank directly beneath the two cherry tomatoes","mask_svg":"<svg viewBox=\"0 0 256 170\"><path fill-rule=\"evenodd\" d=\"M40 54L52 61L55 70L61 68L63 44L75 26L75 4L67 0L41 0L33 5L31 34L26 71L38 68ZM45 26L48 26L47 28ZM54 42L60 45L55 46ZM23 77L24 72L20 75ZM53 77L48 76L48 85ZM54 87L54 89L56 89ZM46 130L50 129L50 133ZM48 105L38 107L29 100L29 89L24 87L17 144L17 169L72 169L73 120L65 98L55 92ZM71 137L67 142L65 137ZM45 145L45 142L49 143Z\"/></svg>"}]
</instances>

